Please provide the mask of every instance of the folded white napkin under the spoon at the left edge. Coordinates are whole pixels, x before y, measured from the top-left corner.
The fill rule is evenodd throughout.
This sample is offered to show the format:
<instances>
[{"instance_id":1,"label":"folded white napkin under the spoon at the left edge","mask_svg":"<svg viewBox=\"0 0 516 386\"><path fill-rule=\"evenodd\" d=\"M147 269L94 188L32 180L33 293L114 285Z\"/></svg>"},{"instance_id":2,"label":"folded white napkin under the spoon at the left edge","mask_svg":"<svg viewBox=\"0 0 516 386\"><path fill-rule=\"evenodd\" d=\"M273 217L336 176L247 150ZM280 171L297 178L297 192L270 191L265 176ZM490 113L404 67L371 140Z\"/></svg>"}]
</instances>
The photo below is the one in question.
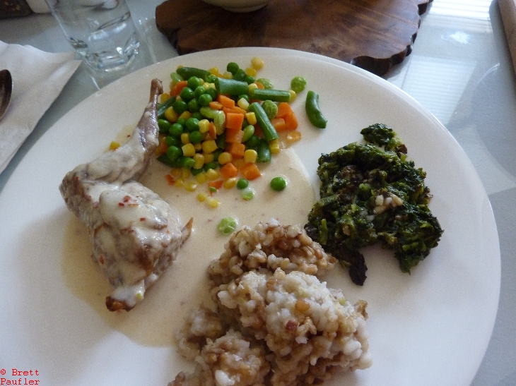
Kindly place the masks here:
<instances>
[{"instance_id":1,"label":"folded white napkin under the spoon at the left edge","mask_svg":"<svg viewBox=\"0 0 516 386\"><path fill-rule=\"evenodd\" d=\"M0 41L0 70L11 71L14 84L0 120L0 173L81 64L74 58L74 52L51 54Z\"/></svg>"}]
</instances>

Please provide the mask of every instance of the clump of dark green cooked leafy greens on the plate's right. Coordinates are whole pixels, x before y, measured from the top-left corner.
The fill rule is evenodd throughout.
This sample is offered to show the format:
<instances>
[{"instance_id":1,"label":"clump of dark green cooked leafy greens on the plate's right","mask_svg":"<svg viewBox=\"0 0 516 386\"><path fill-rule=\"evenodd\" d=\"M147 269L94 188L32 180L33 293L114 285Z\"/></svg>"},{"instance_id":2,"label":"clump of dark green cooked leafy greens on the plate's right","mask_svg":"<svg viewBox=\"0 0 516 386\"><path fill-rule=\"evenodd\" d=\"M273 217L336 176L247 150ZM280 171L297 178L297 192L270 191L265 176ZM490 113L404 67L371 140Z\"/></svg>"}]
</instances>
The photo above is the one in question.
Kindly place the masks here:
<instances>
[{"instance_id":1,"label":"clump of dark green cooked leafy greens on the plate's right","mask_svg":"<svg viewBox=\"0 0 516 386\"><path fill-rule=\"evenodd\" d=\"M381 123L351 143L319 157L320 199L305 225L363 285L367 266L360 249L375 243L394 250L402 272L410 272L438 245L442 229L430 210L426 173L416 169L406 146Z\"/></svg>"}]
</instances>

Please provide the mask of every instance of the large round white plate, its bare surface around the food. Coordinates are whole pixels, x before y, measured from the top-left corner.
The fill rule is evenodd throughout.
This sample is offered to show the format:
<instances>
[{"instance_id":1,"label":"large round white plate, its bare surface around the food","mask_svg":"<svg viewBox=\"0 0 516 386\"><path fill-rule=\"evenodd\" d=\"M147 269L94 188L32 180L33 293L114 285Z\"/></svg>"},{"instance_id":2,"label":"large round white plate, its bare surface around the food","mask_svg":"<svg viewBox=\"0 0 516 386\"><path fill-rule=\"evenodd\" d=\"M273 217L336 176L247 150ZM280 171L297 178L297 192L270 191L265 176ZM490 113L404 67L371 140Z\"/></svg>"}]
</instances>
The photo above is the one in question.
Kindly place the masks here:
<instances>
[{"instance_id":1,"label":"large round white plate, its bare surface around the food","mask_svg":"<svg viewBox=\"0 0 516 386\"><path fill-rule=\"evenodd\" d=\"M100 155L122 128L134 126L152 78L168 80L179 64L224 68L236 61L245 66L256 55L266 63L260 76L274 80L277 88L288 88L293 76L303 75L308 88L319 92L329 120L324 131L307 123L303 96L294 103L303 131L295 150L315 186L322 152L360 140L365 126L386 123L427 171L434 195L430 209L445 229L439 246L411 275L401 274L394 258L377 249L366 253L364 287L351 284L346 272L330 275L329 284L344 289L350 300L368 301L374 363L368 370L339 375L329 385L469 385L491 337L500 287L496 225L469 159L428 111L385 80L322 56L266 48L201 52L143 68L69 111L30 149L0 193L0 368L6 373L0 378L54 386L164 386L188 369L175 346L152 339L160 330L153 319L177 310L158 307L136 318L147 299L141 311L118 316L103 315L102 306L93 306L102 303L106 288L94 294L86 289L92 277L101 277L87 256L73 263L64 256L88 245L83 234L76 234L80 225L66 210L58 186L66 171ZM83 244L70 245L75 236ZM179 260L186 258L194 257ZM175 275L180 269L175 267L180 263L165 276ZM172 288L158 282L149 296L152 291L187 296L182 285L196 291L178 279ZM37 370L38 375L13 376L13 368Z\"/></svg>"}]
</instances>

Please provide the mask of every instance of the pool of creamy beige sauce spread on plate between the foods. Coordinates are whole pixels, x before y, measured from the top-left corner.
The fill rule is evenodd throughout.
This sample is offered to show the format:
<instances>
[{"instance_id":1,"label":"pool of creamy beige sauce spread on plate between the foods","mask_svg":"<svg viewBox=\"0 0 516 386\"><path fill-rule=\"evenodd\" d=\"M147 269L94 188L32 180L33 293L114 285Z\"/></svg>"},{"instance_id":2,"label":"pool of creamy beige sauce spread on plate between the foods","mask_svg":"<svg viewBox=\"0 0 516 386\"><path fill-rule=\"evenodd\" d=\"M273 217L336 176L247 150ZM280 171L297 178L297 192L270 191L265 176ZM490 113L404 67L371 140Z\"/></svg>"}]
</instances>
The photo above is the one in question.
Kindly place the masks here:
<instances>
[{"instance_id":1,"label":"pool of creamy beige sauce spread on plate between the foods","mask_svg":"<svg viewBox=\"0 0 516 386\"><path fill-rule=\"evenodd\" d=\"M238 219L238 229L272 217L282 224L305 224L315 202L315 190L305 167L291 148L275 155L270 164L262 165L262 177L250 182L256 191L252 200L240 198L237 188L221 188L213 195L220 201L216 208L197 200L197 193L207 191L206 184L195 192L170 186L165 179L169 171L170 168L154 162L140 181L177 210L181 224L193 217L192 235L182 246L177 260L145 291L145 299L134 309L111 313L105 308L105 296L112 288L100 267L90 259L86 227L74 215L70 215L63 251L64 279L71 292L86 301L108 325L134 342L149 346L172 346L175 331L182 326L187 311L209 296L206 268L221 255L229 239L217 230L223 217ZM276 192L270 188L269 182L275 176L288 179L285 190ZM145 283L141 285L144 287ZM134 294L137 287L120 291Z\"/></svg>"}]
</instances>

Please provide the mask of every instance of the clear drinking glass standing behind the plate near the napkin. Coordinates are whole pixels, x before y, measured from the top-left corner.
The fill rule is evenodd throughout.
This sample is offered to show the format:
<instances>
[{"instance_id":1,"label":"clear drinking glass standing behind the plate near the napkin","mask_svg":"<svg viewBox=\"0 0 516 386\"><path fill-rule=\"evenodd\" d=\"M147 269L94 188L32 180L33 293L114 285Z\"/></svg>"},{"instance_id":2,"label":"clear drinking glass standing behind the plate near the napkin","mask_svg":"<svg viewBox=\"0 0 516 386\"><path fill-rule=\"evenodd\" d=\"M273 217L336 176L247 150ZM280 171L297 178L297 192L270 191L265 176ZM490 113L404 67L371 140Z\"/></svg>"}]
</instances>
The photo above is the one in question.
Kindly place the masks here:
<instances>
[{"instance_id":1,"label":"clear drinking glass standing behind the plate near the napkin","mask_svg":"<svg viewBox=\"0 0 516 386\"><path fill-rule=\"evenodd\" d=\"M94 70L120 70L138 53L136 27L125 0L45 1L66 39Z\"/></svg>"}]
</instances>

